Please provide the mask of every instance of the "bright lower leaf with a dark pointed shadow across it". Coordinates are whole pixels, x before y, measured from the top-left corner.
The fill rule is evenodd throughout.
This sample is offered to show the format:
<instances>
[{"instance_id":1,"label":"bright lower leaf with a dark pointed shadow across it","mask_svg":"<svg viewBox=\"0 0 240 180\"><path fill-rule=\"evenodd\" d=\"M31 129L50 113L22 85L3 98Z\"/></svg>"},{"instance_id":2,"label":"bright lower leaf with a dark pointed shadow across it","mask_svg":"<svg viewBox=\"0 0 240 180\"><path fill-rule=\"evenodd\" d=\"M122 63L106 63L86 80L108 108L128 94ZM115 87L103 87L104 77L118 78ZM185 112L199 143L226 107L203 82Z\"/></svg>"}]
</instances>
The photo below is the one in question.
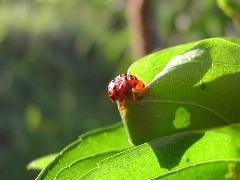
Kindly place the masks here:
<instances>
[{"instance_id":1,"label":"bright lower leaf with a dark pointed shadow across it","mask_svg":"<svg viewBox=\"0 0 240 180\"><path fill-rule=\"evenodd\" d=\"M162 137L109 157L82 179L149 179L166 173L177 176L184 168L188 172L182 174L182 179L197 179L198 164L201 168L212 168L211 173L200 176L200 179L207 179L230 174L226 167L234 162L240 162L240 154L231 136L215 132L186 132ZM211 163L215 164L215 169ZM212 174L223 168L225 171ZM230 170L233 171L231 173L235 171Z\"/></svg>"}]
</instances>

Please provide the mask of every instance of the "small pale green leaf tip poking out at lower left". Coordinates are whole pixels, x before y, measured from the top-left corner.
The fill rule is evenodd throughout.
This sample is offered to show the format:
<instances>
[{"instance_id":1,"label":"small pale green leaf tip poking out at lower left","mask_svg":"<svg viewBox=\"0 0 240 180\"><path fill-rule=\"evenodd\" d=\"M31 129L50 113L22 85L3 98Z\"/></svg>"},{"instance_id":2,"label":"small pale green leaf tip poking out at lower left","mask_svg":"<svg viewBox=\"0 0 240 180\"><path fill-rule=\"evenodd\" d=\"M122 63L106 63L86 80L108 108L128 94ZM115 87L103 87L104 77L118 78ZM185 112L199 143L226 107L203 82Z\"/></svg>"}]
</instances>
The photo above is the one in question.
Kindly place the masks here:
<instances>
[{"instance_id":1,"label":"small pale green leaf tip poking out at lower left","mask_svg":"<svg viewBox=\"0 0 240 180\"><path fill-rule=\"evenodd\" d=\"M57 157L58 153L37 158L27 165L28 170L42 170Z\"/></svg>"}]
</instances>

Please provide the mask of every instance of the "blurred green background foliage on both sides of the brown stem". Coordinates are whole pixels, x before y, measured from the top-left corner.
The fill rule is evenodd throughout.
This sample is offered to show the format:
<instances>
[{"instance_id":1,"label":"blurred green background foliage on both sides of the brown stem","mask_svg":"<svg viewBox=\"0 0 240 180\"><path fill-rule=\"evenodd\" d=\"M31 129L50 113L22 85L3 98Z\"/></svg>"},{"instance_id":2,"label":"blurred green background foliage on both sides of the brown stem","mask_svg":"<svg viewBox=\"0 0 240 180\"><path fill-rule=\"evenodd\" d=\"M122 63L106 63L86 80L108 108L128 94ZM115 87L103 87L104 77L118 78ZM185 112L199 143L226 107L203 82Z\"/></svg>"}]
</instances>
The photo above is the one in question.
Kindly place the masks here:
<instances>
[{"instance_id":1,"label":"blurred green background foliage on both sides of the brown stem","mask_svg":"<svg viewBox=\"0 0 240 180\"><path fill-rule=\"evenodd\" d=\"M150 10L160 48L239 35L214 0ZM124 0L0 1L0 179L33 179L28 162L120 121L106 87L134 60L128 27Z\"/></svg>"}]
</instances>

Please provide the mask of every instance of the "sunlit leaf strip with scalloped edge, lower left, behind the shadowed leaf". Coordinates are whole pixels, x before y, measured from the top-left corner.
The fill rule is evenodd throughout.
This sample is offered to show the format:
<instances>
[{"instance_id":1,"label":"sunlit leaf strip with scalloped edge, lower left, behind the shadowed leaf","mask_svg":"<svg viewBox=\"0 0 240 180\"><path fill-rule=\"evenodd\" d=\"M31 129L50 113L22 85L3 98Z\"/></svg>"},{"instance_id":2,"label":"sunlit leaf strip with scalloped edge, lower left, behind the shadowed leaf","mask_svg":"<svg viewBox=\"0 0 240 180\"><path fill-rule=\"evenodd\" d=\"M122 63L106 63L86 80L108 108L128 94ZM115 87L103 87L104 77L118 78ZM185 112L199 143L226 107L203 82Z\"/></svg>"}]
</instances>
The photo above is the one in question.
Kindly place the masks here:
<instances>
[{"instance_id":1,"label":"sunlit leaf strip with scalloped edge, lower left, behind the shadowed leaf","mask_svg":"<svg viewBox=\"0 0 240 180\"><path fill-rule=\"evenodd\" d=\"M86 173L100 159L130 146L122 123L86 133L61 151L37 179L54 179L63 169L73 167L74 170L76 162L77 166L82 167L81 172Z\"/></svg>"}]
</instances>

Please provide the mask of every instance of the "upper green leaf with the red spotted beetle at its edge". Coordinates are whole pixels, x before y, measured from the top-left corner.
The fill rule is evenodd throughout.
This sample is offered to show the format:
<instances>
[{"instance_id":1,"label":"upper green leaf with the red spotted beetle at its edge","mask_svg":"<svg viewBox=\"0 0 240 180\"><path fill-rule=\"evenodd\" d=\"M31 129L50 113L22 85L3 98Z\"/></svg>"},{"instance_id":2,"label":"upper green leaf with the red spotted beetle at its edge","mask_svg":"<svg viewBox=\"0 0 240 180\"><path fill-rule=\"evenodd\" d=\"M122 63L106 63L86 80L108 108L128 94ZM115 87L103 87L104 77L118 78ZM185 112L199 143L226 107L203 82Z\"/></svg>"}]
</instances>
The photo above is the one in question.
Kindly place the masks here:
<instances>
[{"instance_id":1,"label":"upper green leaf with the red spotted beetle at its edge","mask_svg":"<svg viewBox=\"0 0 240 180\"><path fill-rule=\"evenodd\" d=\"M121 111L130 140L240 122L240 40L212 38L153 53L129 68L147 84ZM140 101L140 100L139 100Z\"/></svg>"}]
</instances>

